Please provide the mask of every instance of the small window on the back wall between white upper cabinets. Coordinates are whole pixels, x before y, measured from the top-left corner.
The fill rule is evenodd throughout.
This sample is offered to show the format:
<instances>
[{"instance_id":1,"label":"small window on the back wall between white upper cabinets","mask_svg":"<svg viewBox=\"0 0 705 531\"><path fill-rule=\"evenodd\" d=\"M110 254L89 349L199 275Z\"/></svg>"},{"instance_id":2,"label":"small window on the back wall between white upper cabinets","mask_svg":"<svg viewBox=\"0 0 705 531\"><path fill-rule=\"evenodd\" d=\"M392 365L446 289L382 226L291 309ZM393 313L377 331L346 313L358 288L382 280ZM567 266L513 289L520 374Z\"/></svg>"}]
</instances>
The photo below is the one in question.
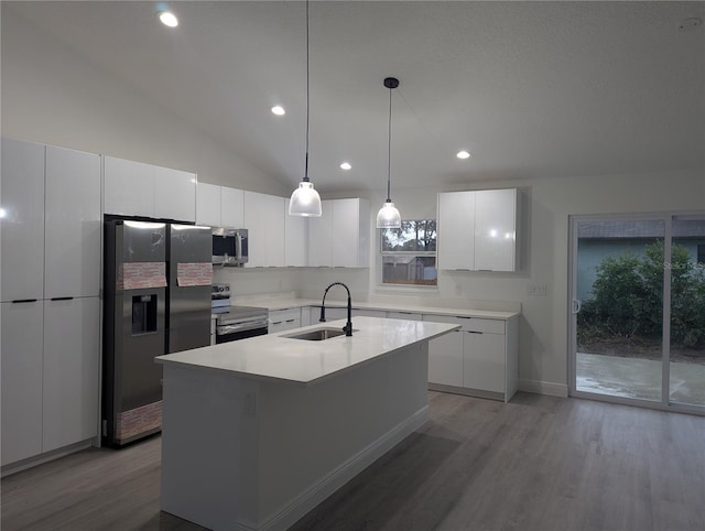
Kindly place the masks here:
<instances>
[{"instance_id":1,"label":"small window on the back wall between white upper cabinets","mask_svg":"<svg viewBox=\"0 0 705 531\"><path fill-rule=\"evenodd\" d=\"M414 219L382 229L382 284L436 285L436 220Z\"/></svg>"}]
</instances>

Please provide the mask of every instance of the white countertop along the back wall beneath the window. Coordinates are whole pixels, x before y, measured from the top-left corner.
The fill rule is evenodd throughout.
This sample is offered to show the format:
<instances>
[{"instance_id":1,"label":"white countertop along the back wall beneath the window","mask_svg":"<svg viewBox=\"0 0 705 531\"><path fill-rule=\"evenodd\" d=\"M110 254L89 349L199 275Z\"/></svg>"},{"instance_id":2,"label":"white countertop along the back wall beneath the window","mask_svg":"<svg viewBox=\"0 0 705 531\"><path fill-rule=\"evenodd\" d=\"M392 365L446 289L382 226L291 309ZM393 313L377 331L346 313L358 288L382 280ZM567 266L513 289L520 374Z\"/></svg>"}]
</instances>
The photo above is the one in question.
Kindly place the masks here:
<instances>
[{"instance_id":1,"label":"white countertop along the back wall beneath the window","mask_svg":"<svg viewBox=\"0 0 705 531\"><path fill-rule=\"evenodd\" d=\"M293 307L321 306L321 300L301 299L291 296L272 296L272 295L243 295L236 296L232 300L234 305L242 306L260 306L265 307L270 312L276 310L286 310ZM326 300L326 307L347 307L345 301ZM382 312L411 312L417 314L430 315L457 315L460 317L480 317L488 319L507 321L519 315L520 312L502 312L495 310L469 310L429 306L423 304L399 304L399 303L380 303L380 302L356 302L352 301L352 308L358 310L379 310ZM359 318L359 317L356 317Z\"/></svg>"}]
</instances>

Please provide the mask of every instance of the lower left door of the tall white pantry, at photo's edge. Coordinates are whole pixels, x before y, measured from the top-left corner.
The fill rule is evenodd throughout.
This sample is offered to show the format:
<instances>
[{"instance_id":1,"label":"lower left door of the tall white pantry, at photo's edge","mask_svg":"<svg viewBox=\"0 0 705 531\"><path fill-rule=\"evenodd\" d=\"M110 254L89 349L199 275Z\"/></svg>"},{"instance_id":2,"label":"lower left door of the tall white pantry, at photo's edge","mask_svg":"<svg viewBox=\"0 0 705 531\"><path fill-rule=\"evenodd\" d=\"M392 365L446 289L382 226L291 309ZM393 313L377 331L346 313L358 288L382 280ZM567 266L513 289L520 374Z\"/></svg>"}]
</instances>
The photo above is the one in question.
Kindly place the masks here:
<instances>
[{"instance_id":1,"label":"lower left door of the tall white pantry, at photo's edge","mask_svg":"<svg viewBox=\"0 0 705 531\"><path fill-rule=\"evenodd\" d=\"M1 306L0 453L2 465L7 465L42 453L43 302L8 302ZM95 383L97 387L98 381Z\"/></svg>"}]
</instances>

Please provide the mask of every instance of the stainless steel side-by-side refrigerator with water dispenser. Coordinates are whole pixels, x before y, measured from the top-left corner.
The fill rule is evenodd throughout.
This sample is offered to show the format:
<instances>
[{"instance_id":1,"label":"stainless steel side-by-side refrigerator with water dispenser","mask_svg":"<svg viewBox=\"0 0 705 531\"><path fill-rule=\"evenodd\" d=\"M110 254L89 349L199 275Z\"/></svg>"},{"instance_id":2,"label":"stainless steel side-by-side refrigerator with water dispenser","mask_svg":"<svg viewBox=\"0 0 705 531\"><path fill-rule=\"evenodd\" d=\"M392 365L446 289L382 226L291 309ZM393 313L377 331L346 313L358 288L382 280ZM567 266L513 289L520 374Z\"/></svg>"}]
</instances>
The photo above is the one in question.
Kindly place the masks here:
<instances>
[{"instance_id":1,"label":"stainless steel side-by-side refrigerator with water dispenser","mask_svg":"<svg viewBox=\"0 0 705 531\"><path fill-rule=\"evenodd\" d=\"M104 443L159 432L155 356L210 344L210 227L129 219L105 224Z\"/></svg>"}]
</instances>

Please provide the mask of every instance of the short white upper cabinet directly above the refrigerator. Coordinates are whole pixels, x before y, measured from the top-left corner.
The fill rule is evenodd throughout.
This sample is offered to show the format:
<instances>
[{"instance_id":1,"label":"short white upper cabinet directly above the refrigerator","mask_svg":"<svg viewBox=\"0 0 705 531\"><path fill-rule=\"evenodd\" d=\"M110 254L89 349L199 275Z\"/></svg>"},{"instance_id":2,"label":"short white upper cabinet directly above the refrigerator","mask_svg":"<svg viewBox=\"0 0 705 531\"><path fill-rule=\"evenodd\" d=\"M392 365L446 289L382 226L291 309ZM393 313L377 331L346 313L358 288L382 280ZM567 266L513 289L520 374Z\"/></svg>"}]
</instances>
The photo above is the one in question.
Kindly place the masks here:
<instances>
[{"instance_id":1,"label":"short white upper cabinet directly above the refrigerator","mask_svg":"<svg viewBox=\"0 0 705 531\"><path fill-rule=\"evenodd\" d=\"M104 158L105 213L196 220L196 175L113 156Z\"/></svg>"}]
</instances>

